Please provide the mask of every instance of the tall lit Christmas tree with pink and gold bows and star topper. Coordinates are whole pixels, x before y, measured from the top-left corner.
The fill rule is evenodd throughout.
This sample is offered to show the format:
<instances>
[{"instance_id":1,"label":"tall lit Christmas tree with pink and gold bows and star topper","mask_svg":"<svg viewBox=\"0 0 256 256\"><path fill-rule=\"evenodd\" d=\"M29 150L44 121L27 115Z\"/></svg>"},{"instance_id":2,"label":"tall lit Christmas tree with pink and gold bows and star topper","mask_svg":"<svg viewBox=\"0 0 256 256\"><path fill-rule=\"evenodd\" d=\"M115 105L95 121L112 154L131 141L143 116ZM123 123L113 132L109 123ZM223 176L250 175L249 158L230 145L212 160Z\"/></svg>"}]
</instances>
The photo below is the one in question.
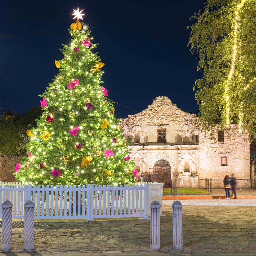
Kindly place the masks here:
<instances>
[{"instance_id":1,"label":"tall lit Christmas tree with pink and gold bows and star topper","mask_svg":"<svg viewBox=\"0 0 256 256\"><path fill-rule=\"evenodd\" d=\"M58 75L40 100L43 114L28 130L27 155L16 179L31 185L129 184L138 178L113 103L101 84L104 63L93 51L90 31L79 21L69 29L70 45L55 60Z\"/></svg>"}]
</instances>

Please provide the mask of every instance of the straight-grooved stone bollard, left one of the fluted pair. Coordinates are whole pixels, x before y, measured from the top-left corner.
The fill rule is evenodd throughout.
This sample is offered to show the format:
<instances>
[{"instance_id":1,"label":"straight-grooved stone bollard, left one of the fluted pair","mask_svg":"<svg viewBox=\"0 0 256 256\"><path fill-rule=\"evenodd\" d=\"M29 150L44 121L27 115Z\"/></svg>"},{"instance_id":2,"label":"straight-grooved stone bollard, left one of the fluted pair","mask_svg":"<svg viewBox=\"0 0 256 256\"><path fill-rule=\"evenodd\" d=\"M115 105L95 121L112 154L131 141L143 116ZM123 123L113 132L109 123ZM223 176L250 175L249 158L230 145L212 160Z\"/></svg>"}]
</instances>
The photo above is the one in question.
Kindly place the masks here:
<instances>
[{"instance_id":1,"label":"straight-grooved stone bollard, left one of the fluted pair","mask_svg":"<svg viewBox=\"0 0 256 256\"><path fill-rule=\"evenodd\" d=\"M160 249L160 207L157 201L150 205L150 249Z\"/></svg>"}]
</instances>

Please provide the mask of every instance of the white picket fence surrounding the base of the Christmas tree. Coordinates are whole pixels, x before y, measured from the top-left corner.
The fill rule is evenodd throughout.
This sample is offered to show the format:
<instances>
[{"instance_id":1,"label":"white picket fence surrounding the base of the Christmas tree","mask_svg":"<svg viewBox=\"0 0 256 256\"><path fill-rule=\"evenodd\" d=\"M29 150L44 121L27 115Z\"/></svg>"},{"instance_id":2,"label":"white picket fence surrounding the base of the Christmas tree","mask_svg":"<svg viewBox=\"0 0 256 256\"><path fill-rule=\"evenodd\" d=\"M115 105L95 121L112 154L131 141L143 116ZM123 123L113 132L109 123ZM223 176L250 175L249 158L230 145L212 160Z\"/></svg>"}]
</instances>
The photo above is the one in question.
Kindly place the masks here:
<instances>
[{"instance_id":1,"label":"white picket fence surrounding the base of the Christmas tree","mask_svg":"<svg viewBox=\"0 0 256 256\"><path fill-rule=\"evenodd\" d=\"M35 204L35 219L86 219L141 217L150 215L149 205L162 204L163 183L136 183L120 186L33 186L0 183L2 203L13 204L13 218L24 218L24 203Z\"/></svg>"}]
</instances>

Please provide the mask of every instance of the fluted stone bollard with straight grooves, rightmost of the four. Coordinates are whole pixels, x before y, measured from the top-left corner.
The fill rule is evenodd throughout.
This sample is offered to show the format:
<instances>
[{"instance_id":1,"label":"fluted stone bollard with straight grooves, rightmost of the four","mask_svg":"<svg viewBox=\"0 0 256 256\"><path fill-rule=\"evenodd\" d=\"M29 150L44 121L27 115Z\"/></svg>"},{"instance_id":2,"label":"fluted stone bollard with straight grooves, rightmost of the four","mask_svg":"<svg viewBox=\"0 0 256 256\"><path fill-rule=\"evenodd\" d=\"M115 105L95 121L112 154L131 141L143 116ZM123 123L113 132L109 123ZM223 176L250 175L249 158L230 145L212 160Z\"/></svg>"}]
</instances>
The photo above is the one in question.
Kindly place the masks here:
<instances>
[{"instance_id":1,"label":"fluted stone bollard with straight grooves, rightmost of the four","mask_svg":"<svg viewBox=\"0 0 256 256\"><path fill-rule=\"evenodd\" d=\"M172 243L173 249L183 248L182 204L180 201L175 201L172 204Z\"/></svg>"}]
</instances>

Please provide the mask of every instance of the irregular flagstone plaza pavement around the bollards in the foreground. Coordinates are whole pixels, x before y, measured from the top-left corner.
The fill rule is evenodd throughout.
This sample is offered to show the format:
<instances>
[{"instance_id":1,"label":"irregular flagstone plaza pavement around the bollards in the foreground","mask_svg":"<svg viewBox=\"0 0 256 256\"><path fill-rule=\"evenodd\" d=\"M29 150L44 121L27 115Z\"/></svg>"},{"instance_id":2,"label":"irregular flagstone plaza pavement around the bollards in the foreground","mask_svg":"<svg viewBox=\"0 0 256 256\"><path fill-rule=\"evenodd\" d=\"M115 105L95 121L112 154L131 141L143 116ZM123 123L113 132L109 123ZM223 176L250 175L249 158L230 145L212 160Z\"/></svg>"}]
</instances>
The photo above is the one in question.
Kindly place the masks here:
<instances>
[{"instance_id":1,"label":"irregular flagstone plaza pavement around the bollards in the foreground","mask_svg":"<svg viewBox=\"0 0 256 256\"><path fill-rule=\"evenodd\" d=\"M180 251L172 249L173 201L163 200L166 216L160 220L160 250L150 249L149 220L122 218L36 220L35 250L26 253L22 250L23 223L14 220L13 250L0 255L256 256L255 199L181 200L184 248Z\"/></svg>"}]
</instances>

